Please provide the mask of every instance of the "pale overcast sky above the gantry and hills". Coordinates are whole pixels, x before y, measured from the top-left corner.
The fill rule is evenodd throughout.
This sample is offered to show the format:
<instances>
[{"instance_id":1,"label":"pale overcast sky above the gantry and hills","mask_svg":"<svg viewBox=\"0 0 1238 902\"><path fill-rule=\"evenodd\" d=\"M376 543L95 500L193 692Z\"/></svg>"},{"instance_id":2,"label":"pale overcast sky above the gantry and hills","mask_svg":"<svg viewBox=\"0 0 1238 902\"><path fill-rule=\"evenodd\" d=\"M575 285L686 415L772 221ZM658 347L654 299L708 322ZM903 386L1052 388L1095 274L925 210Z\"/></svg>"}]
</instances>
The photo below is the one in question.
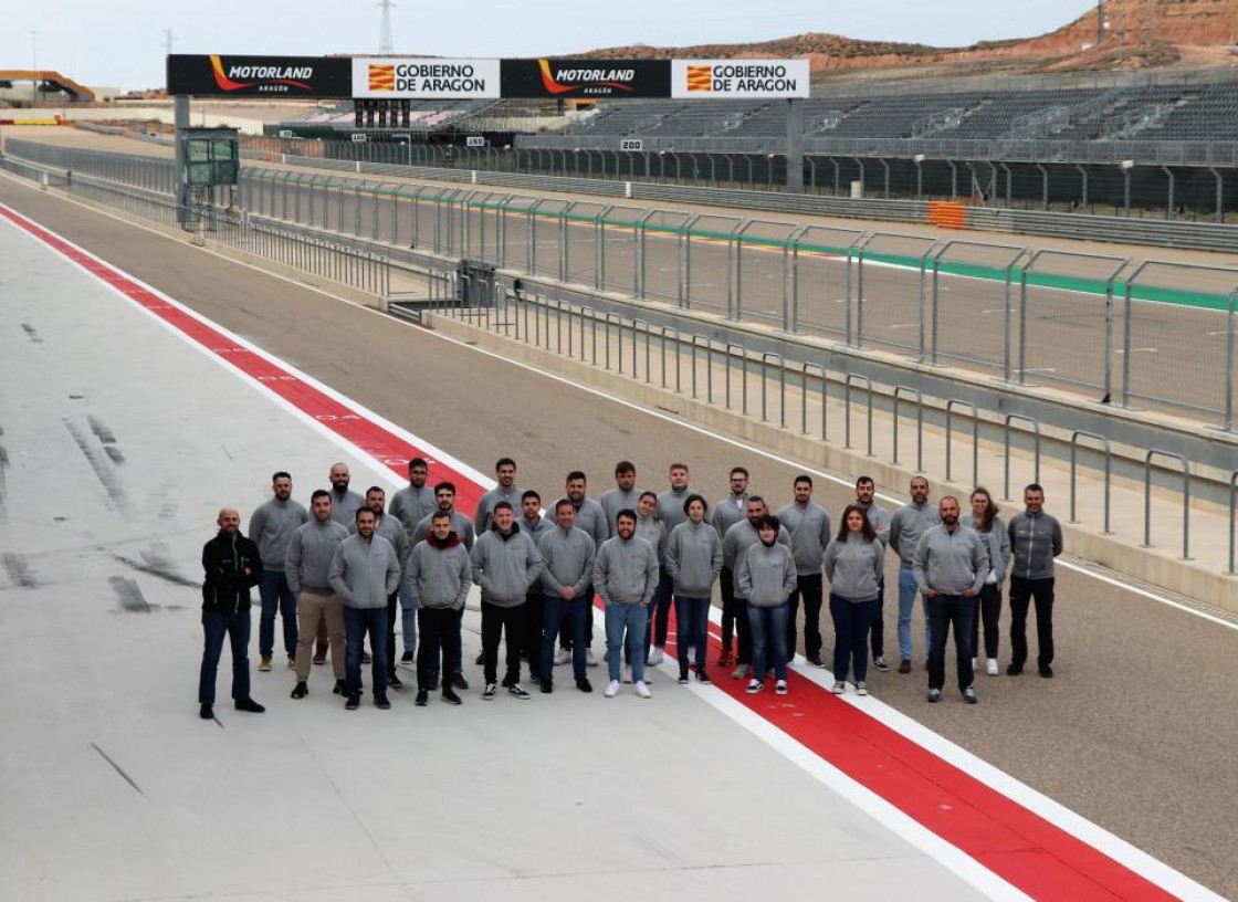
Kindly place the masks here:
<instances>
[{"instance_id":1,"label":"pale overcast sky above the gantry and hills","mask_svg":"<svg viewBox=\"0 0 1238 902\"><path fill-rule=\"evenodd\" d=\"M604 6L589 0L400 0L391 9L391 33L396 53L480 58L566 56L634 43L745 43L810 31L957 47L1041 35L1093 5L1089 0L625 0ZM173 35L176 53L376 53L383 12L369 0L45 0L9 4L0 21L0 68L25 69L37 58L40 68L58 69L83 84L130 90L163 85L165 28Z\"/></svg>"}]
</instances>

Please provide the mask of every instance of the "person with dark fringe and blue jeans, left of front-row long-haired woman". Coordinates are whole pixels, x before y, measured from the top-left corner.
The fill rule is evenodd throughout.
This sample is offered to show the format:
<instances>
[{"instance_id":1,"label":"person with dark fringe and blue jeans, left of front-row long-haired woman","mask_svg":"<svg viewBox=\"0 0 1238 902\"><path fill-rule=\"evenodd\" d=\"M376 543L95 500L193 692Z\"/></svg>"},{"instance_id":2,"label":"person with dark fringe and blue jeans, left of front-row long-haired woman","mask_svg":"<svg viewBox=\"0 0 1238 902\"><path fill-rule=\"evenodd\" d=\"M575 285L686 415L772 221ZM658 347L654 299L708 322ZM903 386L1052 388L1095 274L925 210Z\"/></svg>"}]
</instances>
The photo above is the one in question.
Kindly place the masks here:
<instances>
[{"instance_id":1,"label":"person with dark fringe and blue jeans, left of front-row long-haired woman","mask_svg":"<svg viewBox=\"0 0 1238 902\"><path fill-rule=\"evenodd\" d=\"M739 530L737 523L732 530ZM730 535L729 532L727 533ZM756 521L756 544L744 553L735 570L735 594L748 599L748 620L753 631L753 678L748 693L765 688L765 663L774 652L774 692L785 695L787 598L795 591L795 557L789 544L781 544L786 530L775 516Z\"/></svg>"}]
</instances>

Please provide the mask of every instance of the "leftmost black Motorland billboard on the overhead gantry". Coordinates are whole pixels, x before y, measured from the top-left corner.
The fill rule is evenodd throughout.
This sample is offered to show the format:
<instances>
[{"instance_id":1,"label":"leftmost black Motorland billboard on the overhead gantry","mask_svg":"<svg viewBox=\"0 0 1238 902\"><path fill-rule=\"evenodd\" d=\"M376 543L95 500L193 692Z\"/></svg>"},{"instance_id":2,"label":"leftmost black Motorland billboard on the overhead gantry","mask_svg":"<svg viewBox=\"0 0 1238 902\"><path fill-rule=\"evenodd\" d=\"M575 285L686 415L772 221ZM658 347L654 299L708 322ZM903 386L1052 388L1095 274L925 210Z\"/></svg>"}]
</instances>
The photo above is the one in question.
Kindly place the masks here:
<instances>
[{"instance_id":1,"label":"leftmost black Motorland billboard on the overhead gantry","mask_svg":"<svg viewBox=\"0 0 1238 902\"><path fill-rule=\"evenodd\" d=\"M353 88L344 57L248 57L172 53L167 93L194 97L347 98Z\"/></svg>"}]
</instances>

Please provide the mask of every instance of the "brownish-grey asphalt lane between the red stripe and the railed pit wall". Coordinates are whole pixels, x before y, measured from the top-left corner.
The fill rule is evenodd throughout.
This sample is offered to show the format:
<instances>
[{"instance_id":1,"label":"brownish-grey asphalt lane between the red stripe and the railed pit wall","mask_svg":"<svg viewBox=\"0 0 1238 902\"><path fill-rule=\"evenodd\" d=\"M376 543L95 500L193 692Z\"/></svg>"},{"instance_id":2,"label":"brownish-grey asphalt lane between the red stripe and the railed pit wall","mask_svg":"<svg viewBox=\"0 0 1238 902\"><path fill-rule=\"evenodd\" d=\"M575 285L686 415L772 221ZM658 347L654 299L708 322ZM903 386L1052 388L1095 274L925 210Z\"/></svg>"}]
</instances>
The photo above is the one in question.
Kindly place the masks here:
<instances>
[{"instance_id":1,"label":"brownish-grey asphalt lane between the red stripe and the railed pit wall","mask_svg":"<svg viewBox=\"0 0 1238 902\"><path fill-rule=\"evenodd\" d=\"M521 484L545 495L574 466L600 492L614 460L628 457L654 488L667 463L683 459L711 495L724 490L728 468L743 463L754 488L781 505L802 466L25 186L0 181L0 200L483 471L513 454ZM831 483L818 495L834 512L847 499ZM1055 504L1065 499L1050 499ZM1227 715L1238 684L1238 636L1076 573L1062 572L1058 582L1058 678L982 677L978 708L930 708L917 641L915 674L878 674L875 692L1171 866L1238 895L1238 721ZM915 635L922 636L919 626ZM886 642L894 643L893 611Z\"/></svg>"}]
</instances>

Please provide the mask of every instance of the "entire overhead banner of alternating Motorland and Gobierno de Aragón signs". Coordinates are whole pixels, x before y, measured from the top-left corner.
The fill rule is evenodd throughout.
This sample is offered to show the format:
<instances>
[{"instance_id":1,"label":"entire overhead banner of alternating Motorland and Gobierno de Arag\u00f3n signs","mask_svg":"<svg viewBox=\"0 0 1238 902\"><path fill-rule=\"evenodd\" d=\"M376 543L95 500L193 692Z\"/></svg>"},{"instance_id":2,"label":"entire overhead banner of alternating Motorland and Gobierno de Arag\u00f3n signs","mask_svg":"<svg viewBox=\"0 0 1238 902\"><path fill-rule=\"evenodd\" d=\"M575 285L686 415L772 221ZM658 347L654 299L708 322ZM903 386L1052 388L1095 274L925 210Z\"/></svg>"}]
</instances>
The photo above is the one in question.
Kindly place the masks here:
<instances>
[{"instance_id":1,"label":"entire overhead banner of alternating Motorland and Gobierno de Arag\u00f3n signs","mask_svg":"<svg viewBox=\"0 0 1238 902\"><path fill-rule=\"evenodd\" d=\"M368 99L808 97L806 59L447 59L167 57L167 92L189 97Z\"/></svg>"}]
</instances>

